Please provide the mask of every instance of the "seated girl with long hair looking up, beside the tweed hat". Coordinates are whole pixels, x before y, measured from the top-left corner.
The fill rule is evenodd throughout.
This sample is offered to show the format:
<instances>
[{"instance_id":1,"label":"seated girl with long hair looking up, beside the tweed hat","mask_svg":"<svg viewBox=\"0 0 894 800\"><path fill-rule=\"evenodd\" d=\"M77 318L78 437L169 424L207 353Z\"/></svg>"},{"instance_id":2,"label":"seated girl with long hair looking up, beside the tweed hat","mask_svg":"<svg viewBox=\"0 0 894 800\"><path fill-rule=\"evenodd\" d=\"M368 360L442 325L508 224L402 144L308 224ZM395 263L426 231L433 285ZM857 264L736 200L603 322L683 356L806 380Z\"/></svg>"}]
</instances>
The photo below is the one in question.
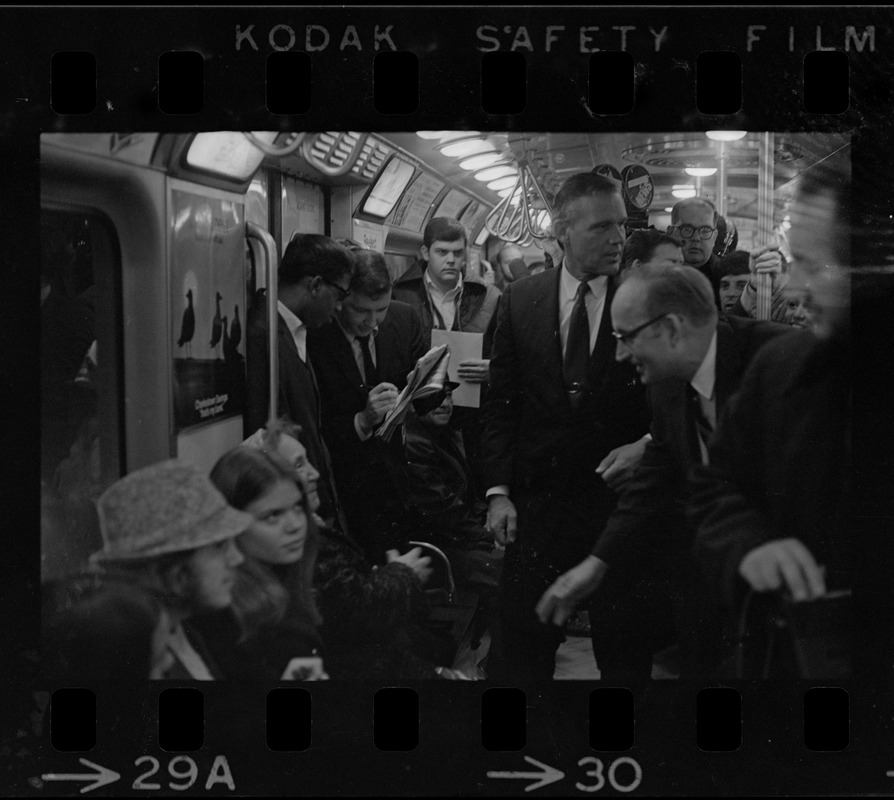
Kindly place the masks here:
<instances>
[{"instance_id":1,"label":"seated girl with long hair looking up, beside the tweed hat","mask_svg":"<svg viewBox=\"0 0 894 800\"><path fill-rule=\"evenodd\" d=\"M238 633L216 615L202 620L206 643L228 677L325 678L313 599L317 525L294 469L276 452L242 446L221 456L211 481L253 520L237 540L245 558L230 611Z\"/></svg>"}]
</instances>

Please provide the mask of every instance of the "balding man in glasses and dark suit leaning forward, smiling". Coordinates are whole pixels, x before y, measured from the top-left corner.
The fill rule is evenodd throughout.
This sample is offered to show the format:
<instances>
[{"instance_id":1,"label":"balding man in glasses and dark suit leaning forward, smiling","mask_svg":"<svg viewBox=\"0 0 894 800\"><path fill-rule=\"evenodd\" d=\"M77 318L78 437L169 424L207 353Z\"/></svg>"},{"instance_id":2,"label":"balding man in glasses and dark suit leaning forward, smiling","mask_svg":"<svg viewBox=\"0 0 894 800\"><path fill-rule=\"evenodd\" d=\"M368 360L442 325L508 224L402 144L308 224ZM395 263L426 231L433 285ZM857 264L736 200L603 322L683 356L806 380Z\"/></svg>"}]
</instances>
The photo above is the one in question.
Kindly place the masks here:
<instances>
[{"instance_id":1,"label":"balding man in glasses and dark suit leaning forward, smiling","mask_svg":"<svg viewBox=\"0 0 894 800\"><path fill-rule=\"evenodd\" d=\"M718 321L709 281L685 266L635 271L615 294L611 315L617 358L634 364L649 388L652 441L591 555L550 587L538 614L562 624L610 568L616 597L606 601L600 592L593 615L601 623L594 622L593 641L603 678L648 680L666 634L656 617L669 608L680 637L681 676L706 677L721 655L719 622L683 524L687 475L707 458L717 415L757 351L780 335L800 334L772 322ZM787 340L774 346L784 349ZM631 593L643 576L647 583Z\"/></svg>"}]
</instances>

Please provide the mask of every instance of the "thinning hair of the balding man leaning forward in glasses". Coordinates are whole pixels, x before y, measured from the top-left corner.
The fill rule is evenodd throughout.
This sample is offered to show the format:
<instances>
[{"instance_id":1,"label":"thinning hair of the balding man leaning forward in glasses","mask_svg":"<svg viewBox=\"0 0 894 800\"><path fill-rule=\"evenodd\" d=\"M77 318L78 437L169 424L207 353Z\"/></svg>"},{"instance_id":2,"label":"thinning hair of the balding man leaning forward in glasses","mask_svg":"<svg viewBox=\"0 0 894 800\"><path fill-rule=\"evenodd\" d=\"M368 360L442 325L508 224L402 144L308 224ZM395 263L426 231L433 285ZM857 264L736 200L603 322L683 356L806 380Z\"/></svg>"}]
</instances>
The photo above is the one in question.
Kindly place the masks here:
<instances>
[{"instance_id":1,"label":"thinning hair of the balding man leaning forward in glasses","mask_svg":"<svg viewBox=\"0 0 894 800\"><path fill-rule=\"evenodd\" d=\"M694 267L642 267L631 273L630 280L645 286L647 317L681 314L699 328L717 320L711 282Z\"/></svg>"}]
</instances>

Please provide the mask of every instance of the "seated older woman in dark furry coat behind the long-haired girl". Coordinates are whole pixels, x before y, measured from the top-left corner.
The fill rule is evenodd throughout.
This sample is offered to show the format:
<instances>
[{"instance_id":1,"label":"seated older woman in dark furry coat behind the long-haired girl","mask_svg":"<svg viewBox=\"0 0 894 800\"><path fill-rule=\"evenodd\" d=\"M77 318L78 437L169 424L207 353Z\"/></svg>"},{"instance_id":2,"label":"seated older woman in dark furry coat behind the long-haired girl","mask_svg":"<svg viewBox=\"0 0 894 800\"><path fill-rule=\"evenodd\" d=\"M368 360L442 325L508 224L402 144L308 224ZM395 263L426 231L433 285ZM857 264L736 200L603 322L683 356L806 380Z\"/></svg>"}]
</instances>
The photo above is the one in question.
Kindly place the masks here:
<instances>
[{"instance_id":1,"label":"seated older woman in dark furry coat behind the long-haired girl","mask_svg":"<svg viewBox=\"0 0 894 800\"><path fill-rule=\"evenodd\" d=\"M277 421L246 444L277 451L292 465L315 515L320 474L288 429L288 423ZM328 674L335 680L466 679L412 652L413 623L426 615L422 586L431 573L429 559L420 556L419 548L403 555L391 550L387 563L375 567L348 533L319 518L316 522L320 545L314 588L323 618L320 633Z\"/></svg>"}]
</instances>

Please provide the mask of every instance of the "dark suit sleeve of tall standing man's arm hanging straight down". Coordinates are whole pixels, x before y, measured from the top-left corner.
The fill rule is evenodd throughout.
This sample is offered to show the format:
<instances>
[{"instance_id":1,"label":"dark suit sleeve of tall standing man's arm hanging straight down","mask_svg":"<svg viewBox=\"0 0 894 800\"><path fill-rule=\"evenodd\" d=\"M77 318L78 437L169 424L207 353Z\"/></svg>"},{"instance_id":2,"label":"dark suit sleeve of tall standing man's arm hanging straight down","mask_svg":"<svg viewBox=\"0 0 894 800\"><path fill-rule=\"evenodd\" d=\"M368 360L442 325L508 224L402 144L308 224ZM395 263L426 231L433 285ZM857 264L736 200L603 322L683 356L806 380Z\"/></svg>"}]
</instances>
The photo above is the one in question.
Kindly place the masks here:
<instances>
[{"instance_id":1,"label":"dark suit sleeve of tall standing man's arm hanging straight down","mask_svg":"<svg viewBox=\"0 0 894 800\"><path fill-rule=\"evenodd\" d=\"M487 488L509 485L521 408L521 365L512 325L512 287L500 301L484 406L482 474Z\"/></svg>"}]
</instances>

